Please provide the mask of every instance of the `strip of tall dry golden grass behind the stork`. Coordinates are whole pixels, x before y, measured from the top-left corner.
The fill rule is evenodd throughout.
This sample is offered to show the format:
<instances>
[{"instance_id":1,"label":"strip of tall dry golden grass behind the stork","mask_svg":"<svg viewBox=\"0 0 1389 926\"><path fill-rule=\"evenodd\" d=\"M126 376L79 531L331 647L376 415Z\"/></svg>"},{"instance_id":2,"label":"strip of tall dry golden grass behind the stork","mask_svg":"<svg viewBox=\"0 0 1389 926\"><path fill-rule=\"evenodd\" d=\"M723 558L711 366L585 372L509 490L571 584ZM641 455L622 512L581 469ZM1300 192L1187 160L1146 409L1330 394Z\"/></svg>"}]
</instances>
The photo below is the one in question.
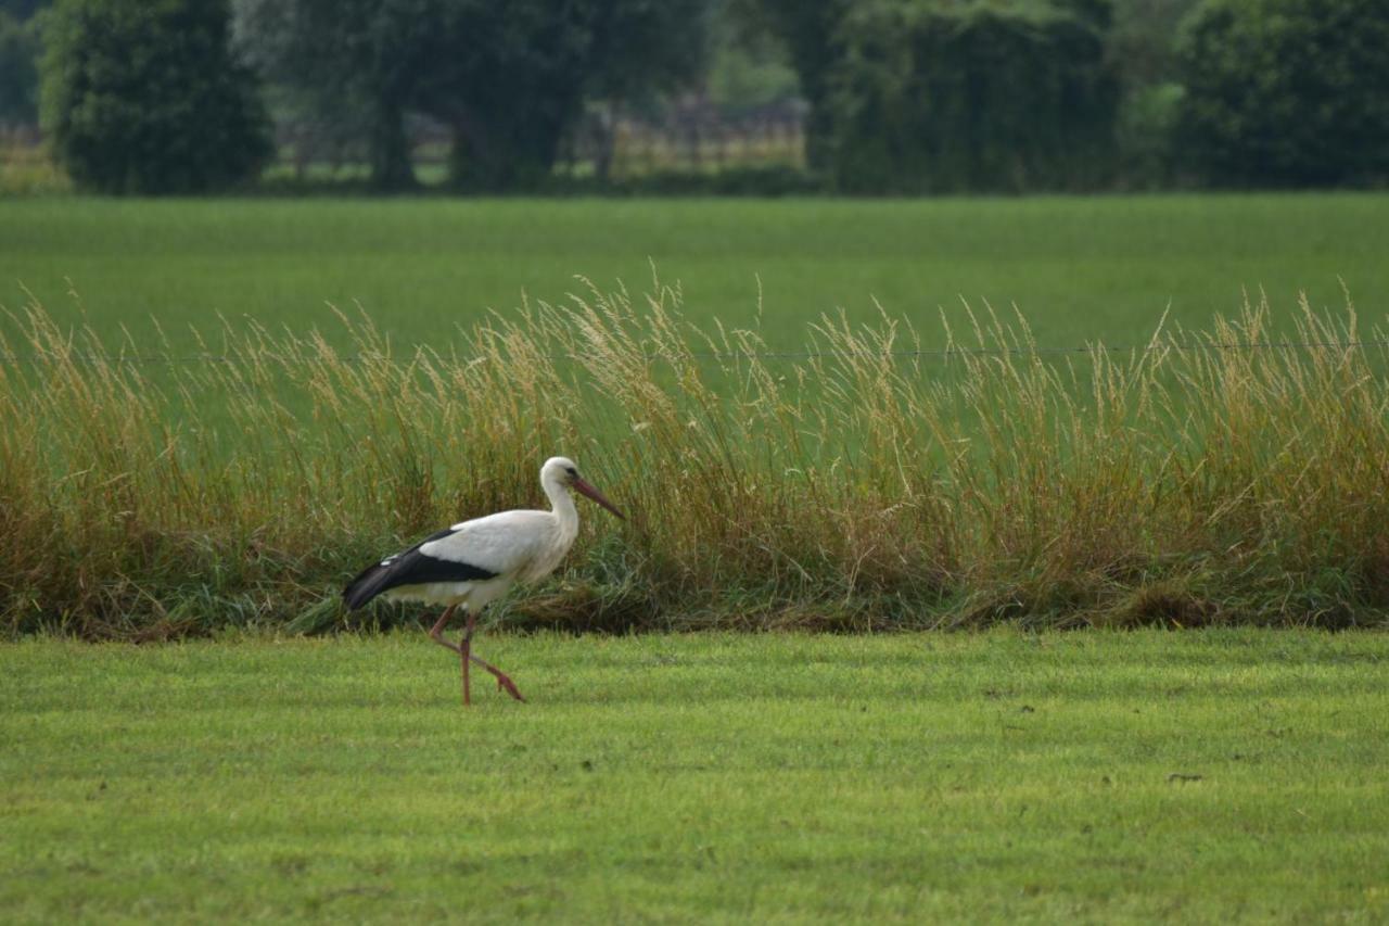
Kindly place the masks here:
<instances>
[{"instance_id":1,"label":"strip of tall dry golden grass behind the stork","mask_svg":"<svg viewBox=\"0 0 1389 926\"><path fill-rule=\"evenodd\" d=\"M925 345L822 318L803 357L700 328L678 288L589 288L394 350L224 325L201 357L103 343L38 304L0 343L0 612L149 638L342 626L353 571L438 524L593 509L522 626L1217 622L1389 613L1389 388L1354 309L1265 302L1204 334L1051 355L990 311ZM381 608L368 620L394 620Z\"/></svg>"}]
</instances>

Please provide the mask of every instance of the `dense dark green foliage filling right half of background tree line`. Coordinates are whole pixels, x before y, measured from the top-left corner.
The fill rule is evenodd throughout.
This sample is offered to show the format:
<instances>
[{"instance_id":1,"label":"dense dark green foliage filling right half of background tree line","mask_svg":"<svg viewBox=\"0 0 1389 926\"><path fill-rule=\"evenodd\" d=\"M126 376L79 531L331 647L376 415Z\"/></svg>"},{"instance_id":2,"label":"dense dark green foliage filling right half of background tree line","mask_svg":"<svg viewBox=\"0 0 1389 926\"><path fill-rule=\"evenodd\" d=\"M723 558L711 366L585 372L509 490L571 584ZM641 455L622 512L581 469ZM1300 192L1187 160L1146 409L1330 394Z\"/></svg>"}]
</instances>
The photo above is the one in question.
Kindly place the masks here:
<instances>
[{"instance_id":1,"label":"dense dark green foliage filling right half of background tree line","mask_svg":"<svg viewBox=\"0 0 1389 926\"><path fill-rule=\"evenodd\" d=\"M811 106L807 161L840 189L1376 184L1386 172L1385 0L733 8L785 42ZM1192 28L1174 46L1183 17Z\"/></svg>"}]
</instances>

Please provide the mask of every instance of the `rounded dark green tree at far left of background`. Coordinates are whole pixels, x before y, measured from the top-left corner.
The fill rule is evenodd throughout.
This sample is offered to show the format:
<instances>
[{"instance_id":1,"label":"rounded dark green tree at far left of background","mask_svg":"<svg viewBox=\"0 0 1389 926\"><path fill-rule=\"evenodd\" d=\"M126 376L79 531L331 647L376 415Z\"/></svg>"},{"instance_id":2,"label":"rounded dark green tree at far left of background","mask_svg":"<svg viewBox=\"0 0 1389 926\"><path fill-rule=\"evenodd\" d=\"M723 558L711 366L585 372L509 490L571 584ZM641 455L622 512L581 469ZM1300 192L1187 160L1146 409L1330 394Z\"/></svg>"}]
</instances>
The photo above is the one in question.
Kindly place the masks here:
<instances>
[{"instance_id":1,"label":"rounded dark green tree at far left of background","mask_svg":"<svg viewBox=\"0 0 1389 926\"><path fill-rule=\"evenodd\" d=\"M224 0L60 0L47 17L40 114L81 188L196 193L256 175L267 120Z\"/></svg>"}]
</instances>

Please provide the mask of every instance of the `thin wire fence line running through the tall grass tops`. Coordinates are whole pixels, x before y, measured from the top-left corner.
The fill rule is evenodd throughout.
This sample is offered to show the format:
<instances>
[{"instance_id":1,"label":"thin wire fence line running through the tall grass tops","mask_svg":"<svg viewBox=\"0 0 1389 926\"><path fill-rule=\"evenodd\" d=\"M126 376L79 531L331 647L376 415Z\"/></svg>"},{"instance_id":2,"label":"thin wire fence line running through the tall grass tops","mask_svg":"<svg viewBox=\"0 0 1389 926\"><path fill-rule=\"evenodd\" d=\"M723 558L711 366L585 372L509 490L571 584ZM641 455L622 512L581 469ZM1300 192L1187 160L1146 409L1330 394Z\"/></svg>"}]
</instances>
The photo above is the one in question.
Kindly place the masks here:
<instances>
[{"instance_id":1,"label":"thin wire fence line running through the tall grass tops","mask_svg":"<svg viewBox=\"0 0 1389 926\"><path fill-rule=\"evenodd\" d=\"M1031 356L1064 356L1064 355L1090 355L1090 353L1106 353L1106 355L1147 355L1160 350L1364 350L1368 348L1389 348L1389 339L1371 339L1371 341L1239 341L1239 342L1196 342L1196 343L1176 343L1176 342L1157 342L1146 345L1126 345L1126 346L1111 346L1111 345L1085 345L1078 348L932 348L921 350L754 350L754 352L740 352L740 350L686 350L681 352L678 356L694 359L694 360L832 360L838 357L892 357L892 359L913 359L913 357L1031 357ZM593 360L590 355L582 353L551 353L543 355L546 360L558 362L583 362ZM663 356L669 356L663 352L653 353L649 359L658 360ZM51 363L56 359L63 359L76 363L106 363L106 364L138 364L138 366L156 366L156 364L199 364L199 363L246 363L249 357L242 357L236 355L215 355L215 353L194 353L194 355L163 355L163 353L0 353L0 363L7 364L40 364ZM264 359L257 357L257 359ZM354 353L354 355L339 355L335 357L342 363L399 363L408 364L415 363L418 356L392 356L392 355L368 355L368 353ZM433 355L429 357L433 362L443 363L458 363L471 364L489 360L488 355L475 355L467 357L447 357L443 355Z\"/></svg>"}]
</instances>

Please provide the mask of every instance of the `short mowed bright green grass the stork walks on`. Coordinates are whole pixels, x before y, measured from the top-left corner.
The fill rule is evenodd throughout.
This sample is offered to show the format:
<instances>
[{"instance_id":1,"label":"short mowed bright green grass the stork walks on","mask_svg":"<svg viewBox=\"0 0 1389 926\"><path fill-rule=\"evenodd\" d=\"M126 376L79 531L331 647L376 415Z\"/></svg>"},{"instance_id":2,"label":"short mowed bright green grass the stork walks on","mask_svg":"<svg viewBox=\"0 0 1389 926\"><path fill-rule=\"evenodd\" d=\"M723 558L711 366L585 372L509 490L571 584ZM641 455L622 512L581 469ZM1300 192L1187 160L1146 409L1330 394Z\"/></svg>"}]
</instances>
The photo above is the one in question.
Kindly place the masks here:
<instances>
[{"instance_id":1,"label":"short mowed bright green grass the stork walks on","mask_svg":"<svg viewBox=\"0 0 1389 926\"><path fill-rule=\"evenodd\" d=\"M1389 637L0 648L0 920L1385 922Z\"/></svg>"}]
</instances>

